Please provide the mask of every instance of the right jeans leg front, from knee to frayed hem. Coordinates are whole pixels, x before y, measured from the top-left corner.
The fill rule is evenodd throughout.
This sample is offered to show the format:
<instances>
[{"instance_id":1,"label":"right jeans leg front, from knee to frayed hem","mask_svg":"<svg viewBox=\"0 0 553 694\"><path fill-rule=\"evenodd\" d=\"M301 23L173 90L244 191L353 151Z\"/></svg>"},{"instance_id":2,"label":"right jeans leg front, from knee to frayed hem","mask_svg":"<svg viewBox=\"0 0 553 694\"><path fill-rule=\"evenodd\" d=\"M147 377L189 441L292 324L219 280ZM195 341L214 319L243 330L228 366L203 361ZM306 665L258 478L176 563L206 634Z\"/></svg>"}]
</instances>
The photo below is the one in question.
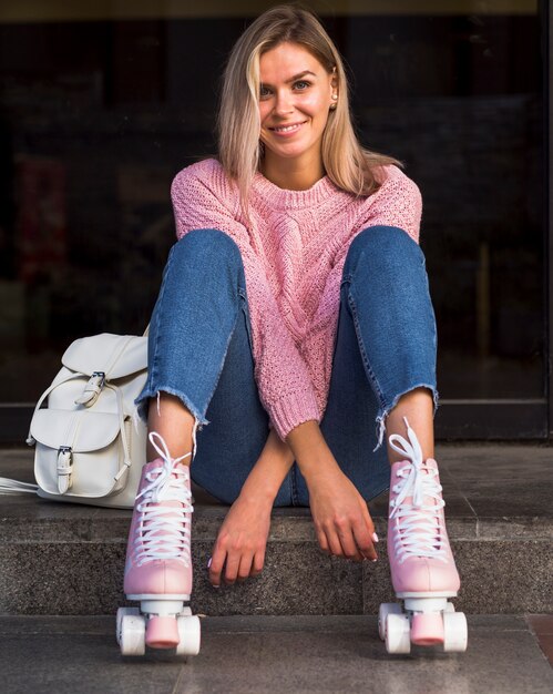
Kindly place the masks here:
<instances>
[{"instance_id":1,"label":"right jeans leg front, from knee to frayed hem","mask_svg":"<svg viewBox=\"0 0 553 694\"><path fill-rule=\"evenodd\" d=\"M434 408L438 404L437 330L424 255L399 227L368 227L349 247L341 290L379 401L380 446L385 420L402 395L426 387Z\"/></svg>"}]
</instances>

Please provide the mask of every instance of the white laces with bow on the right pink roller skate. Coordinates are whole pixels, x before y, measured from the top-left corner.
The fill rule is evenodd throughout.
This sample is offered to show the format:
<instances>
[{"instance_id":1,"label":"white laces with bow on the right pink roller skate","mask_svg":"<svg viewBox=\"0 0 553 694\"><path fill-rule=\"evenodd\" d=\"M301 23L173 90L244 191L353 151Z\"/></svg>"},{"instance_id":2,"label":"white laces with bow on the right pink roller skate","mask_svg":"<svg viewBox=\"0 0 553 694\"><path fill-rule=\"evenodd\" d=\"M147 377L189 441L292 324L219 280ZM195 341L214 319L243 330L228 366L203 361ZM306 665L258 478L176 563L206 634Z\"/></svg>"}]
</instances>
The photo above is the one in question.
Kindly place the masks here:
<instances>
[{"instance_id":1,"label":"white laces with bow on the right pink roller skate","mask_svg":"<svg viewBox=\"0 0 553 694\"><path fill-rule=\"evenodd\" d=\"M430 557L447 563L447 543L442 530L442 509L446 503L441 498L441 484L436 479L438 470L424 463L417 435L407 417L403 420L409 441L399 433L392 433L389 438L390 447L410 460L404 468L398 469L401 481L392 487L398 496L390 501L390 520L398 519L393 528L396 555L399 563L409 557ZM406 501L408 497L411 498L409 502ZM428 499L431 499L430 503Z\"/></svg>"}]
</instances>

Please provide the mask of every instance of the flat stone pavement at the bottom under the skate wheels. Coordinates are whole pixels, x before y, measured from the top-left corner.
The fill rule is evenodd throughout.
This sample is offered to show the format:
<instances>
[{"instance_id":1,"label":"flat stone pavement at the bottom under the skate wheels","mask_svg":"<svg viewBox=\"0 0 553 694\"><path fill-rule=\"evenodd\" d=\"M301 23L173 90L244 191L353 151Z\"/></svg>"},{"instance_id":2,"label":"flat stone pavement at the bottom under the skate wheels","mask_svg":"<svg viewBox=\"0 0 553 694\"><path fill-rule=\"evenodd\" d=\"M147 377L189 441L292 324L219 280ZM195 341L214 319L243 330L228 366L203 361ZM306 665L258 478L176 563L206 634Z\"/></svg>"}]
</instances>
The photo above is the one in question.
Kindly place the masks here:
<instances>
[{"instance_id":1,"label":"flat stone pavement at the bottom under the skate wheels","mask_svg":"<svg viewBox=\"0 0 553 694\"><path fill-rule=\"evenodd\" d=\"M0 618L6 694L550 694L553 670L522 616L469 616L465 653L388 655L373 616L203 621L199 655L122 657L113 618Z\"/></svg>"}]
</instances>

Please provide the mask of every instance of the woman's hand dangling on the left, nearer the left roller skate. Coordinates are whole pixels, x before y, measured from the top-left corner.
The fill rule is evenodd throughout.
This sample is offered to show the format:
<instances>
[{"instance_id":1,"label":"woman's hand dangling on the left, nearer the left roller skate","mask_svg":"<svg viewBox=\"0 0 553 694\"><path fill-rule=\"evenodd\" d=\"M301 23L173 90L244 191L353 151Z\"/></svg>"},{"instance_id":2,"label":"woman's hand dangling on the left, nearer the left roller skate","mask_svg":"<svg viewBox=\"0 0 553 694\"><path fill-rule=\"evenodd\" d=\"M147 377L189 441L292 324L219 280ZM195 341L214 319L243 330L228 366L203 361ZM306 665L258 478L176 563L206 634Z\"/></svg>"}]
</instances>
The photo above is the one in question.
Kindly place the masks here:
<instances>
[{"instance_id":1,"label":"woman's hand dangling on the left, nearer the left roller skate","mask_svg":"<svg viewBox=\"0 0 553 694\"><path fill-rule=\"evenodd\" d=\"M265 561L272 508L272 501L262 496L240 494L233 503L213 548L209 581L214 588L221 586L222 578L232 585L259 575Z\"/></svg>"}]
</instances>

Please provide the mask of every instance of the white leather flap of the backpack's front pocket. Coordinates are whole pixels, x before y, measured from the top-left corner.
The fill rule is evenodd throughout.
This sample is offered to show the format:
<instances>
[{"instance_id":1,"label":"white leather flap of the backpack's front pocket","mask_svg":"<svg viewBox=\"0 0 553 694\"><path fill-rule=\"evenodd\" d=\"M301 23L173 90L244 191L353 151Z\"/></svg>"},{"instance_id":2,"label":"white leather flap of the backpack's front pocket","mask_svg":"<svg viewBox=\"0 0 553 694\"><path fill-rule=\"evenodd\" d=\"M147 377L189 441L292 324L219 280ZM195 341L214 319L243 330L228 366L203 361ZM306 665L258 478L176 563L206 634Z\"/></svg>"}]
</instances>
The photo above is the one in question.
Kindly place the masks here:
<instances>
[{"instance_id":1,"label":"white leather flap of the backpack's front pocket","mask_svg":"<svg viewBox=\"0 0 553 694\"><path fill-rule=\"evenodd\" d=\"M75 453L101 450L119 432L119 416L110 412L41 409L31 421L31 435L37 441L54 449L69 446Z\"/></svg>"}]
</instances>

